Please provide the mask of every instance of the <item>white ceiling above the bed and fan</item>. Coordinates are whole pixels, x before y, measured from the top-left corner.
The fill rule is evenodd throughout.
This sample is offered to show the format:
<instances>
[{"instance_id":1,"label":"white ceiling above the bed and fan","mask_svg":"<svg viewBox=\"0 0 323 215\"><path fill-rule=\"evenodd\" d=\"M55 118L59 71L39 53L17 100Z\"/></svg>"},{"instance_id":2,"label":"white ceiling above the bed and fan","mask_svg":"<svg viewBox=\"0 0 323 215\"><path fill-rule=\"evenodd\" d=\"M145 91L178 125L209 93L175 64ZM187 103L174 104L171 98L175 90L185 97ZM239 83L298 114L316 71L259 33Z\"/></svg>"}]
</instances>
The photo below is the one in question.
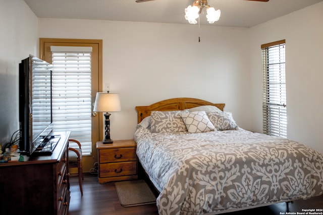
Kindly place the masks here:
<instances>
[{"instance_id":1,"label":"white ceiling above the bed and fan","mask_svg":"<svg viewBox=\"0 0 323 215\"><path fill-rule=\"evenodd\" d=\"M66 18L132 22L188 24L184 9L194 0L24 0L38 18ZM208 5L221 10L221 18L208 24L201 15L201 25L252 27L289 14L323 0L208 0Z\"/></svg>"}]
</instances>

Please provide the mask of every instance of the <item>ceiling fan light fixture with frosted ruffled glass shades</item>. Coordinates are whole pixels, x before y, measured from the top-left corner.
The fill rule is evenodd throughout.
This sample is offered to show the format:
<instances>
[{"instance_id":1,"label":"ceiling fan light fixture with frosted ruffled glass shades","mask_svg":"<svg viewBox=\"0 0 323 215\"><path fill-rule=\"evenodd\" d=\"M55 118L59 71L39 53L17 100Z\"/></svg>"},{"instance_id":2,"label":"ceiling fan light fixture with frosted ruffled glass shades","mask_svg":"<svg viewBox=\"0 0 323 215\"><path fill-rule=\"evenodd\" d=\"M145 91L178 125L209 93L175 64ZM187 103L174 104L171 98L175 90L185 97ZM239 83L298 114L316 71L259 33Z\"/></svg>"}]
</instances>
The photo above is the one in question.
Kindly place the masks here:
<instances>
[{"instance_id":1,"label":"ceiling fan light fixture with frosted ruffled glass shades","mask_svg":"<svg viewBox=\"0 0 323 215\"><path fill-rule=\"evenodd\" d=\"M212 24L220 19L221 11L215 10L213 7L207 5L207 0L195 0L193 5L185 8L185 19L190 24L196 24L196 19L199 17L203 8L206 8L206 18L208 23Z\"/></svg>"}]
</instances>

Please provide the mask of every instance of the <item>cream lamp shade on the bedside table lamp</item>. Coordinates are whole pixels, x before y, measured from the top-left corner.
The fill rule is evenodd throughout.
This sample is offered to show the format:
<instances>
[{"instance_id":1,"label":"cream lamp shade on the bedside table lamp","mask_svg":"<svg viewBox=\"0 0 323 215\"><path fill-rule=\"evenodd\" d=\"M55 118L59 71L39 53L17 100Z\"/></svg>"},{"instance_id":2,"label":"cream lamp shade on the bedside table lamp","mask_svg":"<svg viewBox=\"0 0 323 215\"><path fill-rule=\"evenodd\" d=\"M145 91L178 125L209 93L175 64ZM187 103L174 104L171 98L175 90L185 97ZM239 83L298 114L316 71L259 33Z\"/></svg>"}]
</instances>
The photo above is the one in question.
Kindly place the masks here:
<instances>
[{"instance_id":1,"label":"cream lamp shade on the bedside table lamp","mask_svg":"<svg viewBox=\"0 0 323 215\"><path fill-rule=\"evenodd\" d=\"M120 97L117 93L96 93L93 111L117 112L121 111Z\"/></svg>"}]
</instances>

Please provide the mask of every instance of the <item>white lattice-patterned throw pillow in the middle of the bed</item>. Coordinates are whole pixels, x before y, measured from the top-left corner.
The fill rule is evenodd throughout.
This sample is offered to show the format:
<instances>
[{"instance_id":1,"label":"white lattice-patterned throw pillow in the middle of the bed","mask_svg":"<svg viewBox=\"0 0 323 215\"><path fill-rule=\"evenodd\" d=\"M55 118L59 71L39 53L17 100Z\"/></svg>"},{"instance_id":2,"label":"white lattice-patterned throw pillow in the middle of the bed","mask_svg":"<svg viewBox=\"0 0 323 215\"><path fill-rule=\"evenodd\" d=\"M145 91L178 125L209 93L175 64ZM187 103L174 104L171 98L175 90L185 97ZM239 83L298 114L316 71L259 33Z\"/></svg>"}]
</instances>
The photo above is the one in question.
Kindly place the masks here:
<instances>
[{"instance_id":1,"label":"white lattice-patterned throw pillow in the middle of the bed","mask_svg":"<svg viewBox=\"0 0 323 215\"><path fill-rule=\"evenodd\" d=\"M183 113L182 119L190 133L201 133L216 129L208 119L205 111Z\"/></svg>"}]
</instances>

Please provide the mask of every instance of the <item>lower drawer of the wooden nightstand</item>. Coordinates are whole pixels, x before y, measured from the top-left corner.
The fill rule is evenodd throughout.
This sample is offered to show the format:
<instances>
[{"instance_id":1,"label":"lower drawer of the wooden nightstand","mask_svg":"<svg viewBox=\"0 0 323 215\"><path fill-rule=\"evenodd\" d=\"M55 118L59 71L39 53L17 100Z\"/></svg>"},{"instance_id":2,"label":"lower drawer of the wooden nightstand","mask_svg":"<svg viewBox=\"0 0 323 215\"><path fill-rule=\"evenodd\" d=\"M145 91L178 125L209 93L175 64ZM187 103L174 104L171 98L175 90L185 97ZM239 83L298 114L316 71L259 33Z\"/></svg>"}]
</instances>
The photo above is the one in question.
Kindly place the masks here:
<instances>
[{"instance_id":1,"label":"lower drawer of the wooden nightstand","mask_svg":"<svg viewBox=\"0 0 323 215\"><path fill-rule=\"evenodd\" d=\"M99 165L99 177L116 177L123 175L136 175L137 162L118 162Z\"/></svg>"}]
</instances>

